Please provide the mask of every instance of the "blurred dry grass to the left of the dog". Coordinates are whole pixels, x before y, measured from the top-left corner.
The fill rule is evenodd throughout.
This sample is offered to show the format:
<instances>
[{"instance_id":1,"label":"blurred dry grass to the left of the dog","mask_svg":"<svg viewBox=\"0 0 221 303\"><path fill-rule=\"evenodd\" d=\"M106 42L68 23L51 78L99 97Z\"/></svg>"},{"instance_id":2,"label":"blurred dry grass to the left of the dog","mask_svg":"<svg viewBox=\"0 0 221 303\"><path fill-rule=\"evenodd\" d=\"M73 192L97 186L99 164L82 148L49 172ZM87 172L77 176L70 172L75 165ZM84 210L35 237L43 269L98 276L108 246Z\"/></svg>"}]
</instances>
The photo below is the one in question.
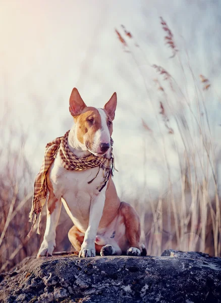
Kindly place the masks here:
<instances>
[{"instance_id":1,"label":"blurred dry grass to the left of the dog","mask_svg":"<svg viewBox=\"0 0 221 303\"><path fill-rule=\"evenodd\" d=\"M25 257L37 254L45 226L43 216L41 235L33 232L30 238L27 237L35 177L24 153L29 134L22 127L17 129L7 100L5 102L5 114L0 118L0 273ZM60 225L58 231L68 231L70 227L68 221L67 226ZM58 249L70 249L70 246L67 237L63 239L58 234Z\"/></svg>"}]
</instances>

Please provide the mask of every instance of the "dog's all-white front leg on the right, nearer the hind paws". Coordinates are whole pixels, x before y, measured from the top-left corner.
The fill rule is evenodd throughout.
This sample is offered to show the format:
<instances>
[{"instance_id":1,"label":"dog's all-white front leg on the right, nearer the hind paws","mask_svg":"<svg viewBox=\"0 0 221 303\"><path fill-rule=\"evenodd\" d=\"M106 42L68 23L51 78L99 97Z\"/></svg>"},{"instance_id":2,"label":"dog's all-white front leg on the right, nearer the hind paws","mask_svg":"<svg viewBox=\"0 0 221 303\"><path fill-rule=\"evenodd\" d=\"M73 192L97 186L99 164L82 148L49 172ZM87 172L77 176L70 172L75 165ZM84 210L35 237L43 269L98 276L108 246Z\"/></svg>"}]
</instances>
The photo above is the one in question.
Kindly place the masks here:
<instances>
[{"instance_id":1,"label":"dog's all-white front leg on the right, nearer the hind paws","mask_svg":"<svg viewBox=\"0 0 221 303\"><path fill-rule=\"evenodd\" d=\"M81 245L79 257L95 257L95 238L97 234L97 228L102 216L104 201L105 201L105 189L95 195L91 199L89 224L85 232L84 241Z\"/></svg>"}]
</instances>

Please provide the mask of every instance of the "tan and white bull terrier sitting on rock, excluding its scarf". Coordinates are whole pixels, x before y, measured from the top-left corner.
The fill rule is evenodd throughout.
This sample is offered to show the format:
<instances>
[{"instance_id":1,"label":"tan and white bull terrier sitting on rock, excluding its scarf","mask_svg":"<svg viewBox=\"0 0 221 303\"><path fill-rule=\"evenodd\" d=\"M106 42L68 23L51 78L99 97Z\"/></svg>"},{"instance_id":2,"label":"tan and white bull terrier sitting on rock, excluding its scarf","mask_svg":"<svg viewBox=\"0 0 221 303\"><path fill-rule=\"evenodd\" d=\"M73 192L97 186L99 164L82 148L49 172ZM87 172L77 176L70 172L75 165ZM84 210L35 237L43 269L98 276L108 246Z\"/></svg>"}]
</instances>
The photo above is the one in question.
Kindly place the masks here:
<instances>
[{"instance_id":1,"label":"tan and white bull terrier sitting on rock, excluding its scarf","mask_svg":"<svg viewBox=\"0 0 221 303\"><path fill-rule=\"evenodd\" d=\"M74 119L67 139L71 153L79 159L91 154L98 160L99 157L108 159L112 149L116 92L100 109L87 107L77 88L73 88L69 105ZM56 226L62 203L74 223L68 237L79 257L146 255L145 247L140 243L138 214L128 203L120 201L111 174L98 190L103 176L103 169L97 167L67 170L57 153L46 176L46 229L37 258L51 256L56 247Z\"/></svg>"}]
</instances>

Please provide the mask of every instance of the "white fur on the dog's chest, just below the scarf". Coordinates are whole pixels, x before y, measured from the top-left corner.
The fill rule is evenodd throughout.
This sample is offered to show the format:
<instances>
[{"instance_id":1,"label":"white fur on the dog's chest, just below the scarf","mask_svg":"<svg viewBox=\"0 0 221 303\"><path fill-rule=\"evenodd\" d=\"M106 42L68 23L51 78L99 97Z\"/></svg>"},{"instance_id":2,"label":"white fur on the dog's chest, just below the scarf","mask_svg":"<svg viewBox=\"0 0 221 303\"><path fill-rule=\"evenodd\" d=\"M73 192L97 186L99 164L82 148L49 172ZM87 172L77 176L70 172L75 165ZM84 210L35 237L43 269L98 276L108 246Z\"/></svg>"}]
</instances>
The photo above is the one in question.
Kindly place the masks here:
<instances>
[{"instance_id":1,"label":"white fur on the dog's chest, just below the scarf","mask_svg":"<svg viewBox=\"0 0 221 303\"><path fill-rule=\"evenodd\" d=\"M106 187L101 192L96 189L103 181L102 169L97 177L88 184L96 176L98 169L95 167L80 172L67 171L63 168L60 155L58 155L49 172L54 194L57 198L62 198L71 220L82 232L85 232L88 227L92 201L99 196L105 200Z\"/></svg>"}]
</instances>

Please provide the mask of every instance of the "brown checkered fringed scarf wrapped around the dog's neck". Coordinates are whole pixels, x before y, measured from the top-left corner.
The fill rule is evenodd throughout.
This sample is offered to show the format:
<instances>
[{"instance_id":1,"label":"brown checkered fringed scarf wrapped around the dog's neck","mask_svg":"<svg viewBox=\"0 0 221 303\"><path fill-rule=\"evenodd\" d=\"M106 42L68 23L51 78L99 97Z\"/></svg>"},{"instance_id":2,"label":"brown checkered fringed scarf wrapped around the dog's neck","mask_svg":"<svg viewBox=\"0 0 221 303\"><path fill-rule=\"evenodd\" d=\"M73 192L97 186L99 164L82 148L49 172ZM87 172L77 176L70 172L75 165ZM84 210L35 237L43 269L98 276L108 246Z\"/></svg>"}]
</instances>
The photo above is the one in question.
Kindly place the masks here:
<instances>
[{"instance_id":1,"label":"brown checkered fringed scarf wrapped around the dog's neck","mask_svg":"<svg viewBox=\"0 0 221 303\"><path fill-rule=\"evenodd\" d=\"M65 169L71 170L71 171L82 171L85 169L98 167L98 171L96 176L88 182L90 184L98 175L100 168L103 169L103 181L101 184L96 187L98 191L101 191L103 187L106 185L106 182L109 179L109 176L114 172L114 156L112 154L113 150L113 140L111 138L111 153L110 157L107 158L105 155L102 157L94 156L93 154L90 154L87 157L84 158L78 158L76 157L71 150L68 147L68 134L70 130L66 132L66 134L63 137L58 137L54 139L53 141L47 143L45 147L45 153L44 153L44 160L41 165L40 171L37 174L34 182L34 194L33 194L33 200L32 200L32 209L29 214L30 222L33 222L30 233L32 231L33 226L36 223L37 216L39 214L39 220L38 220L38 228L37 233L40 234L39 230L39 224L40 224L40 218L41 218L41 210L45 203L48 188L46 184L46 176L48 169L54 159L56 158L56 155L60 153L61 159L62 159L62 165Z\"/></svg>"}]
</instances>

